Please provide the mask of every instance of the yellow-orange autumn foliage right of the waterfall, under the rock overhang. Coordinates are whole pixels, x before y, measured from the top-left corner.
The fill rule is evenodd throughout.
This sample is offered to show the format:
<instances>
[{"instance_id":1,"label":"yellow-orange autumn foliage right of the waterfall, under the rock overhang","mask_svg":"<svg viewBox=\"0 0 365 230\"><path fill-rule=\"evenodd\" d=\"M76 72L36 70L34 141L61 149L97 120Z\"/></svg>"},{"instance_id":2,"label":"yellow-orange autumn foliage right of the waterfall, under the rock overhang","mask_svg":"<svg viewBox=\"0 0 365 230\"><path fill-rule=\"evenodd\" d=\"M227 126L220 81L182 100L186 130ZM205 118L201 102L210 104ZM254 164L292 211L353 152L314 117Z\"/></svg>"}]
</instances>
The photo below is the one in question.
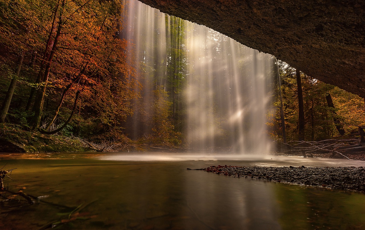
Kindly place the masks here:
<instances>
[{"instance_id":1,"label":"yellow-orange autumn foliage right of the waterfall, under the rock overhang","mask_svg":"<svg viewBox=\"0 0 365 230\"><path fill-rule=\"evenodd\" d=\"M278 67L283 83L281 90L288 141L297 141L299 139L299 114L296 70L281 61L278 61ZM341 139L347 138L351 134L356 136L358 127L365 125L364 99L311 78L304 73L301 73L300 77L303 88L305 140L320 141L334 137ZM271 137L282 141L278 95L278 91L276 91L274 102L276 111L273 120L268 124L272 129ZM329 106L328 95L331 95L334 107ZM339 133L339 127L344 130L345 135Z\"/></svg>"}]
</instances>

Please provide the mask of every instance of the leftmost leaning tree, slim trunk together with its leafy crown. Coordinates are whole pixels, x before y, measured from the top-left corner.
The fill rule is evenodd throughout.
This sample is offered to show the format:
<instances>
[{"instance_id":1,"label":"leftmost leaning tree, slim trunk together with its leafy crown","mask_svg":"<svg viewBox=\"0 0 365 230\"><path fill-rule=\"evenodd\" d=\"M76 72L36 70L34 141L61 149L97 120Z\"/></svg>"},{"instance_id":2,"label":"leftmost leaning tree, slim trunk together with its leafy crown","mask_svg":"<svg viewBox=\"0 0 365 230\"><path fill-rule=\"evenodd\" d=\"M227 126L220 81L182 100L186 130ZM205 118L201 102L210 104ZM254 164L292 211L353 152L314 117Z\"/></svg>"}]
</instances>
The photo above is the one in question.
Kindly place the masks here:
<instances>
[{"instance_id":1,"label":"leftmost leaning tree, slim trunk together with its leafy crown","mask_svg":"<svg viewBox=\"0 0 365 230\"><path fill-rule=\"evenodd\" d=\"M3 53L0 57L0 63L4 70L3 73L11 78L1 107L0 122L4 122L7 116L23 67L24 57L32 47L36 46L35 44L42 34L37 27L40 18L36 13L42 9L42 5L32 4L27 0L11 0L0 4L0 47ZM8 71L13 68L15 71Z\"/></svg>"}]
</instances>

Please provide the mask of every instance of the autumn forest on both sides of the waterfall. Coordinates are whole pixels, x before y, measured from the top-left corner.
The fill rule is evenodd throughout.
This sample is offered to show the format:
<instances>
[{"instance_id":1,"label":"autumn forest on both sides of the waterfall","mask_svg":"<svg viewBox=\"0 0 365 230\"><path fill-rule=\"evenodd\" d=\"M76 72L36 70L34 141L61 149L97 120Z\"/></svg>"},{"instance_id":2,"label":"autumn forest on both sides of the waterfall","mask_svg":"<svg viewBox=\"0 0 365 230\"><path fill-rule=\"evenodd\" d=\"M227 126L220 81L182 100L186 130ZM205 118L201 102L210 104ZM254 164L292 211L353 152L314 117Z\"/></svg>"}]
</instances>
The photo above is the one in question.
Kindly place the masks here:
<instances>
[{"instance_id":1,"label":"autumn forest on both sides of the waterfall","mask_svg":"<svg viewBox=\"0 0 365 230\"><path fill-rule=\"evenodd\" d=\"M0 1L0 141L34 152L188 146L188 28L166 16L170 48L136 62L147 57L136 59L143 53L126 39L127 9L117 0ZM347 138L365 126L364 99L272 63L266 125L277 146Z\"/></svg>"}]
</instances>

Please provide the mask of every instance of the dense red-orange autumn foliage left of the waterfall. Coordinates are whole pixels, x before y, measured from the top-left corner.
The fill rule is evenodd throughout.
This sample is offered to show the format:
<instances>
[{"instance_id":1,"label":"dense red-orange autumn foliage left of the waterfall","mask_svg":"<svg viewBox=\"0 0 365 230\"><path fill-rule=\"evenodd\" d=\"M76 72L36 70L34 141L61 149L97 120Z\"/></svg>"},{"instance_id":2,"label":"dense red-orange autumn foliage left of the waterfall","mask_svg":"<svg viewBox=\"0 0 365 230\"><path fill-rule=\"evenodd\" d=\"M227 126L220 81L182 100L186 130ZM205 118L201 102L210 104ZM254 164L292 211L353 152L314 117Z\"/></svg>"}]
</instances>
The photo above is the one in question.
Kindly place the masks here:
<instances>
[{"instance_id":1,"label":"dense red-orange autumn foliage left of the waterfall","mask_svg":"<svg viewBox=\"0 0 365 230\"><path fill-rule=\"evenodd\" d=\"M1 93L12 94L2 122L83 136L119 127L133 113L139 87L128 41L119 38L120 5L1 1Z\"/></svg>"}]
</instances>

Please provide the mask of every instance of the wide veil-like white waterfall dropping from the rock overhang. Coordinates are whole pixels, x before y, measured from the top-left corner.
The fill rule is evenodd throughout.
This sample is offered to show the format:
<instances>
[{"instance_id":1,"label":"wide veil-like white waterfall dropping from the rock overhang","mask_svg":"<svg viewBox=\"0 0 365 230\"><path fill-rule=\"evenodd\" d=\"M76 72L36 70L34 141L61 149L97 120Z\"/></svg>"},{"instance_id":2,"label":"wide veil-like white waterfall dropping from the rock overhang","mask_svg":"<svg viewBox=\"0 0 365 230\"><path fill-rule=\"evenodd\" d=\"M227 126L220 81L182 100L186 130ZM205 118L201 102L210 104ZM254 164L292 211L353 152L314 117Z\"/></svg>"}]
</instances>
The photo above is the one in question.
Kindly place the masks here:
<instances>
[{"instance_id":1,"label":"wide veil-like white waterfall dropping from the rock overhang","mask_svg":"<svg viewBox=\"0 0 365 230\"><path fill-rule=\"evenodd\" d=\"M146 108L151 92L161 86L168 92L172 116L184 124L189 148L270 151L271 55L136 0L124 6L123 38L134 43L130 49L138 80L147 87L142 92ZM176 118L176 111L185 112Z\"/></svg>"}]
</instances>

